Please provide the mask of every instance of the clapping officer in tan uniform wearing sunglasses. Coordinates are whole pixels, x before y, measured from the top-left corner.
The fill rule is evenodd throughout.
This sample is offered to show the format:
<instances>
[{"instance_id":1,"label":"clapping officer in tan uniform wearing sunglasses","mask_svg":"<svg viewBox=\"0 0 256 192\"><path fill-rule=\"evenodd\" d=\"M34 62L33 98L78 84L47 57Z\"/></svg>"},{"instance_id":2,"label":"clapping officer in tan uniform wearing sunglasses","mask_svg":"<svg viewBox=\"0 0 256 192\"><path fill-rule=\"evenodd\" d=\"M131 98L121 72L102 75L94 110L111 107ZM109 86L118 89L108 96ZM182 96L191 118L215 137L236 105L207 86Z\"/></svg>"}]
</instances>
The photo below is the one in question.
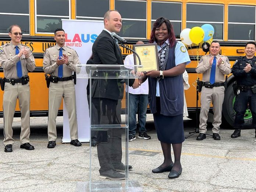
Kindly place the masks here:
<instances>
[{"instance_id":1,"label":"clapping officer in tan uniform wearing sunglasses","mask_svg":"<svg viewBox=\"0 0 256 192\"><path fill-rule=\"evenodd\" d=\"M35 70L35 59L29 47L22 45L21 28L11 25L9 29L11 42L0 47L0 64L4 69L3 114L4 114L4 151L13 151L13 117L17 99L21 110L20 148L33 150L29 143L30 127L30 89L28 71Z\"/></svg>"}]
</instances>

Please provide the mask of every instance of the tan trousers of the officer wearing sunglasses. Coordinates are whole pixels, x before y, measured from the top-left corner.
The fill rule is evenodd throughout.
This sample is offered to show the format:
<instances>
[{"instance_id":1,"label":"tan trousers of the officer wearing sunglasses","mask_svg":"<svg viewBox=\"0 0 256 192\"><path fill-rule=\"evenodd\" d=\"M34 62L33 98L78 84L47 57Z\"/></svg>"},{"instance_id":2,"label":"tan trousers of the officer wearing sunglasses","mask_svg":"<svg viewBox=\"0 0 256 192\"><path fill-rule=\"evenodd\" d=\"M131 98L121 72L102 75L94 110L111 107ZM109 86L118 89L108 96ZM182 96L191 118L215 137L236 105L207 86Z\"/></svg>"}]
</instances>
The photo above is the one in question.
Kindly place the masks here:
<instances>
[{"instance_id":1,"label":"tan trousers of the officer wearing sunglasses","mask_svg":"<svg viewBox=\"0 0 256 192\"><path fill-rule=\"evenodd\" d=\"M30 127L30 88L29 83L21 85L21 83L5 83L3 97L3 112L4 112L4 146L14 144L13 116L15 112L16 102L19 100L19 109L21 110L21 135L20 144L29 143Z\"/></svg>"}]
</instances>

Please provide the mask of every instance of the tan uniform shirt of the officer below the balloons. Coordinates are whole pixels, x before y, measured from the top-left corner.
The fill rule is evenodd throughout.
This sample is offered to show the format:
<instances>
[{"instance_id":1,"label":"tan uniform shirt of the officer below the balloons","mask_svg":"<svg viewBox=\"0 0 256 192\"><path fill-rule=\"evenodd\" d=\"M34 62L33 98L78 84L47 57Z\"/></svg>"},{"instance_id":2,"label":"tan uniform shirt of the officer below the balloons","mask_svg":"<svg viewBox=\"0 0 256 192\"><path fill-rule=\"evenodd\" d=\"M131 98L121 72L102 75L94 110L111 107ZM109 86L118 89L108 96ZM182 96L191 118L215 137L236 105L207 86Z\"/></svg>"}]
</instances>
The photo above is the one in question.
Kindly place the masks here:
<instances>
[{"instance_id":1,"label":"tan uniform shirt of the officer below the balloons","mask_svg":"<svg viewBox=\"0 0 256 192\"><path fill-rule=\"evenodd\" d=\"M198 66L196 67L197 73L203 74L203 82L210 82L210 75L211 75L211 65L210 65L210 58L213 57L211 54L202 56ZM219 66L217 60L221 58L223 63L221 63ZM216 83L222 83L225 82L225 75L230 74L231 68L230 68L230 62L228 60L228 57L223 55L217 55L216 56L216 72L215 72L215 82Z\"/></svg>"}]
</instances>

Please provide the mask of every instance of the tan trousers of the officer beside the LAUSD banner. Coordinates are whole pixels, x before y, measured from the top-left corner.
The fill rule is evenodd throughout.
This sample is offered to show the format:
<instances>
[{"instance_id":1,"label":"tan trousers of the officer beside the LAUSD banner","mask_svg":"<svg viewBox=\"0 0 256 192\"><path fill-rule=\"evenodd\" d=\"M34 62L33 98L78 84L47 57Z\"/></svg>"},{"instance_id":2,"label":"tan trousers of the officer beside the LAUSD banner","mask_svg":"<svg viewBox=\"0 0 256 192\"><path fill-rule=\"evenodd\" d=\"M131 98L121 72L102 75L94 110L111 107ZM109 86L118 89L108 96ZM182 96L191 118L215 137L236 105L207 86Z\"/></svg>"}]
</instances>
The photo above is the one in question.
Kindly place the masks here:
<instances>
[{"instance_id":1,"label":"tan trousers of the officer beside the LAUSD banner","mask_svg":"<svg viewBox=\"0 0 256 192\"><path fill-rule=\"evenodd\" d=\"M78 139L77 107L75 102L75 85L73 80L50 83L49 86L49 115L48 115L48 140L56 141L56 117L62 97L68 111L71 140Z\"/></svg>"}]
</instances>

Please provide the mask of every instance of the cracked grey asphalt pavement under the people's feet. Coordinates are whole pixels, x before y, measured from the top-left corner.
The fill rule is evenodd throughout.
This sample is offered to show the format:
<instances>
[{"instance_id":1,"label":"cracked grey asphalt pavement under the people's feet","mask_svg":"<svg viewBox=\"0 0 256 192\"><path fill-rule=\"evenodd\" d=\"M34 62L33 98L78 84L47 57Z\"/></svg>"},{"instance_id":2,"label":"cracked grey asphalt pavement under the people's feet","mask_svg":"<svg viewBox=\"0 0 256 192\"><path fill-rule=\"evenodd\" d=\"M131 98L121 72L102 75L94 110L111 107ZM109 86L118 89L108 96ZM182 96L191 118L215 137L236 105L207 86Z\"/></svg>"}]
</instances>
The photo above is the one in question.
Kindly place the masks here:
<instances>
[{"instance_id":1,"label":"cracked grey asphalt pavement under the people's feet","mask_svg":"<svg viewBox=\"0 0 256 192\"><path fill-rule=\"evenodd\" d=\"M47 149L47 117L31 117L30 141L35 150L27 151L19 147L20 118L14 118L13 152L5 153L4 146L0 146L1 192L73 192L80 190L79 183L89 180L89 143L81 147L62 144L62 121L63 117L57 117L56 147ZM195 124L184 118L185 135L194 130ZM182 145L182 174L168 179L168 172L151 171L163 162L152 115L147 115L146 128L152 139L136 138L129 142L129 164L133 166L129 179L137 181L144 192L256 191L254 129L242 130L241 137L231 139L233 130L222 128L220 141L210 136L196 141L198 134L189 137ZM207 129L211 134L211 125ZM0 118L0 142L3 138L3 118ZM97 174L94 177L98 179Z\"/></svg>"}]
</instances>

